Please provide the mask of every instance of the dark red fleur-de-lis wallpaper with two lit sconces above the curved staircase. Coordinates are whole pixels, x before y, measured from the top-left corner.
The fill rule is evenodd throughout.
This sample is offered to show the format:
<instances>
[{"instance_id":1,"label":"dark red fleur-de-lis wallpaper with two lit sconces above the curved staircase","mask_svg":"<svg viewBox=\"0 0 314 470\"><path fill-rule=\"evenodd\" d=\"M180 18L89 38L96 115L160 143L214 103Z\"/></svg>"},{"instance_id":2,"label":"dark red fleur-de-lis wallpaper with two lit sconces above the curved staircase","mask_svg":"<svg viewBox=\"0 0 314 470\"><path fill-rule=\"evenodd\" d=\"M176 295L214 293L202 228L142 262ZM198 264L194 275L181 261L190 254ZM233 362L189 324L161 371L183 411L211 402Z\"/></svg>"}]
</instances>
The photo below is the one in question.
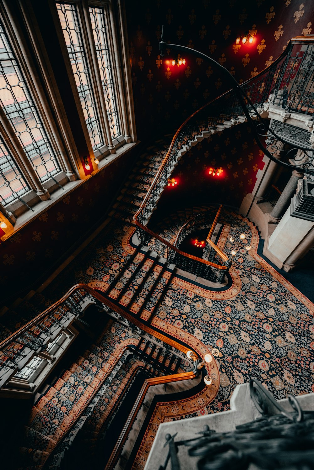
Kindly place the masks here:
<instances>
[{"instance_id":1,"label":"dark red fleur-de-lis wallpaper with two lit sconces above the curved staircase","mask_svg":"<svg viewBox=\"0 0 314 470\"><path fill-rule=\"evenodd\" d=\"M182 44L209 55L238 80L265 69L292 36L314 33L313 0L138 0L126 1L131 75L137 133L141 139L155 128L169 132L193 111L228 89L227 79L200 57L159 56L161 27L165 42ZM235 46L250 32L252 44ZM144 134L145 133L145 134Z\"/></svg>"}]
</instances>

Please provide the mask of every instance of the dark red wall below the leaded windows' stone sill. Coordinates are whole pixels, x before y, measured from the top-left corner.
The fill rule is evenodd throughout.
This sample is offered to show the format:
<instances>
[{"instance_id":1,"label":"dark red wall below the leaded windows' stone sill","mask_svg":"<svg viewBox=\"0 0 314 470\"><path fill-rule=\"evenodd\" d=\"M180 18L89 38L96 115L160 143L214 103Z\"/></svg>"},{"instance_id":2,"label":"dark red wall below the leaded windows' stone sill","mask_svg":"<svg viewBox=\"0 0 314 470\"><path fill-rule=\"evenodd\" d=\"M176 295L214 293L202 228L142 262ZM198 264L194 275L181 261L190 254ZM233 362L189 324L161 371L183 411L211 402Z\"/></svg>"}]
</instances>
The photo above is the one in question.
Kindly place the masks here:
<instances>
[{"instance_id":1,"label":"dark red wall below the leaded windows' stone sill","mask_svg":"<svg viewBox=\"0 0 314 470\"><path fill-rule=\"evenodd\" d=\"M29 287L40 276L47 278L60 260L74 251L80 237L80 244L83 243L90 235L90 227L108 211L123 180L121 175L128 172L134 151L86 180L80 188L1 243L1 301Z\"/></svg>"}]
</instances>

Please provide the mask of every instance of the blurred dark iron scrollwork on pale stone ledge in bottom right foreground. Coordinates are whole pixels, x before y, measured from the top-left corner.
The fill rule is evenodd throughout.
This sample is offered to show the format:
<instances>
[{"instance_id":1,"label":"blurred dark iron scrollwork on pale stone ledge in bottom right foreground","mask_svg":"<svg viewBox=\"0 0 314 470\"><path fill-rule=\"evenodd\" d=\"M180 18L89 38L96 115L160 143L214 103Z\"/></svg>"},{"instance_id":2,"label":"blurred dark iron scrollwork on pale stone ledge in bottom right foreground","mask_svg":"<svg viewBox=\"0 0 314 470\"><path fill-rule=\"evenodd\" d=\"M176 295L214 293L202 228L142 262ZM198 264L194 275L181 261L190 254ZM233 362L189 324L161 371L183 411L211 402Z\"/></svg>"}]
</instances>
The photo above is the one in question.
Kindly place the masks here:
<instances>
[{"instance_id":1,"label":"blurred dark iron scrollwork on pale stone ledge in bottom right foreground","mask_svg":"<svg viewBox=\"0 0 314 470\"><path fill-rule=\"evenodd\" d=\"M177 433L166 434L166 458L159 470L230 468L245 470L310 470L314 460L314 412L303 411L298 400L289 395L288 412L256 379L250 381L251 398L261 417L235 426L234 431L216 432L206 424L199 437L176 440ZM180 453L180 447L188 451ZM190 458L190 462L189 462ZM190 465L189 465L190 463Z\"/></svg>"}]
</instances>

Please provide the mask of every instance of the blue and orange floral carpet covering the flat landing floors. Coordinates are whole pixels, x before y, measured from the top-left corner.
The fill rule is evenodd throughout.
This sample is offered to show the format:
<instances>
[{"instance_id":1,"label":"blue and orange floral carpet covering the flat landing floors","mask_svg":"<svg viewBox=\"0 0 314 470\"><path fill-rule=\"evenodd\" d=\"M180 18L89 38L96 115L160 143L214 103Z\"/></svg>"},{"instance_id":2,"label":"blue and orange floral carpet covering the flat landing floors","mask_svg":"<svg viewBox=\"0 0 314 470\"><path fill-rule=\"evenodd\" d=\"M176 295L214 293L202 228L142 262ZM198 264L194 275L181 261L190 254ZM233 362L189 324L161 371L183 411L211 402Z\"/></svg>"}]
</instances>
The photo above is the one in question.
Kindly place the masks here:
<instances>
[{"instance_id":1,"label":"blue and orange floral carpet covering the flat landing floors","mask_svg":"<svg viewBox=\"0 0 314 470\"><path fill-rule=\"evenodd\" d=\"M139 186L132 183L132 188ZM210 405L202 407L200 403L195 412L189 407L186 413L173 417L168 407L163 421L228 409L236 385L252 377L260 380L276 399L285 398L287 393L314 392L314 305L257 254L259 236L252 223L227 210L224 221L217 241L221 250L230 253L230 236L236 238L242 232L251 244L250 252L240 249L233 259L232 285L211 290L175 273L165 286L152 320L157 328L171 325L192 335L195 343L219 349L220 389ZM49 285L47 295L60 298L78 282L102 281L111 285L132 256L133 232L132 222L114 216L97 239ZM131 269L129 264L128 270ZM121 288L129 276L128 270L121 278ZM136 285L133 287L136 289ZM133 468L145 464L157 429L154 417L149 429Z\"/></svg>"}]
</instances>

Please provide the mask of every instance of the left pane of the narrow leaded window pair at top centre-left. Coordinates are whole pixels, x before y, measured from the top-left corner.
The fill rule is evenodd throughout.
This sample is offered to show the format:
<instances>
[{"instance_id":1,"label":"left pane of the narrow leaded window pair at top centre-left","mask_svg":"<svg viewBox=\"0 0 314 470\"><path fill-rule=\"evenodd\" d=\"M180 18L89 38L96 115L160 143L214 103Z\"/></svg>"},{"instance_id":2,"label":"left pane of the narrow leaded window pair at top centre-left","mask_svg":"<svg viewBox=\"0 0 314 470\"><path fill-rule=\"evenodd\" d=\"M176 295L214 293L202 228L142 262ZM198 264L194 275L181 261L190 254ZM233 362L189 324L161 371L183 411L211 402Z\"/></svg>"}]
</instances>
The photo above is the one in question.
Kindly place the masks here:
<instances>
[{"instance_id":1,"label":"left pane of the narrow leaded window pair at top centre-left","mask_svg":"<svg viewBox=\"0 0 314 470\"><path fill-rule=\"evenodd\" d=\"M93 150L104 145L75 5L56 3Z\"/></svg>"}]
</instances>

